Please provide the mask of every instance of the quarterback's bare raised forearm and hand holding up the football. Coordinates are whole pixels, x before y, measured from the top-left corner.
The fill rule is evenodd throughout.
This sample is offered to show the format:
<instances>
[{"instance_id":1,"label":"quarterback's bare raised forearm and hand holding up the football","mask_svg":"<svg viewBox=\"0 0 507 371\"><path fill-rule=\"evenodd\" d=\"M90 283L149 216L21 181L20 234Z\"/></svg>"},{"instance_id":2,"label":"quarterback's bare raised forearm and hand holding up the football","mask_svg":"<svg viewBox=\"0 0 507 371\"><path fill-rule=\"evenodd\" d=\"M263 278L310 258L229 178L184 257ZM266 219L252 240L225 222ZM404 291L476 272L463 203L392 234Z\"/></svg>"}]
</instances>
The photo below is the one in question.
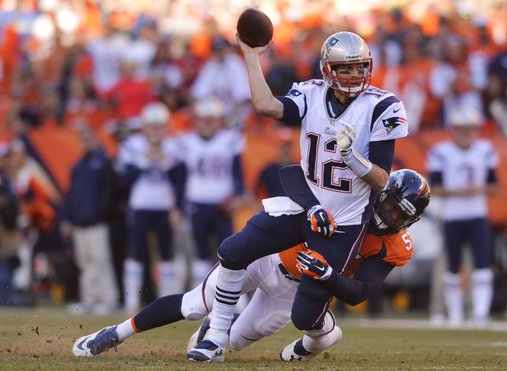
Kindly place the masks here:
<instances>
[{"instance_id":1,"label":"quarterback's bare raised forearm and hand holding up the football","mask_svg":"<svg viewBox=\"0 0 507 371\"><path fill-rule=\"evenodd\" d=\"M236 40L238 40L238 44L245 55L248 80L250 82L250 93L255 110L264 117L275 120L281 119L283 117L283 104L273 96L271 89L267 86L264 75L262 75L259 60L259 56L271 47L273 41L270 41L262 47L250 48L241 41L237 33Z\"/></svg>"}]
</instances>

